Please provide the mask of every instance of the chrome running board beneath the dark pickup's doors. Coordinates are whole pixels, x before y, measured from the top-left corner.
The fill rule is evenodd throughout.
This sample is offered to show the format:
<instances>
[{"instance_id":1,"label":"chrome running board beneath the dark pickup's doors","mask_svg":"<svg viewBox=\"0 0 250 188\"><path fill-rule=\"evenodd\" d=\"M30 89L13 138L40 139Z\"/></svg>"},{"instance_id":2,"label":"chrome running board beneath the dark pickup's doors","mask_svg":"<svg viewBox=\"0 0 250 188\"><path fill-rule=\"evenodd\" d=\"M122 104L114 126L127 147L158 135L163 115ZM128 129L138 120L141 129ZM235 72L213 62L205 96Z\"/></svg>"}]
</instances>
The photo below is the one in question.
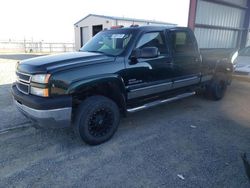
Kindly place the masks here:
<instances>
[{"instance_id":1,"label":"chrome running board beneath the dark pickup's doors","mask_svg":"<svg viewBox=\"0 0 250 188\"><path fill-rule=\"evenodd\" d=\"M164 103L176 101L176 100L179 100L179 99L183 99L183 98L186 98L186 97L189 97L189 96L192 96L192 95L195 95L195 92L183 93L183 94L180 94L180 95L177 95L175 97L168 98L168 99L157 100L157 101L154 101L154 102L150 102L150 103L144 104L143 106L138 106L138 107L135 107L135 108L129 108L129 109L127 109L127 112L129 112L129 113L137 112L137 111L144 110L144 109L147 109L147 108L151 108L151 107L154 107L154 106L157 106L157 105L160 105L160 104L164 104Z\"/></svg>"}]
</instances>

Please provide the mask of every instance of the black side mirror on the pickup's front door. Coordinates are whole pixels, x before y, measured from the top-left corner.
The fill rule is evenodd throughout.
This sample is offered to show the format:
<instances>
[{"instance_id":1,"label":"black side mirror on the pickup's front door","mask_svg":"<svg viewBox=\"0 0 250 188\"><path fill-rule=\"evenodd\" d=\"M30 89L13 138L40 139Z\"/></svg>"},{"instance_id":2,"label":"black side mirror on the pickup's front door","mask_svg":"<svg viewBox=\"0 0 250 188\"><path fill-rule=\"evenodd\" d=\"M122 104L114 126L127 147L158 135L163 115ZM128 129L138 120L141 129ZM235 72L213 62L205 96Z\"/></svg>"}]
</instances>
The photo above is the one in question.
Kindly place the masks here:
<instances>
[{"instance_id":1,"label":"black side mirror on the pickup's front door","mask_svg":"<svg viewBox=\"0 0 250 188\"><path fill-rule=\"evenodd\" d=\"M157 47L145 47L142 49L135 49L130 59L135 62L138 58L154 58L158 57L158 55L159 50Z\"/></svg>"}]
</instances>

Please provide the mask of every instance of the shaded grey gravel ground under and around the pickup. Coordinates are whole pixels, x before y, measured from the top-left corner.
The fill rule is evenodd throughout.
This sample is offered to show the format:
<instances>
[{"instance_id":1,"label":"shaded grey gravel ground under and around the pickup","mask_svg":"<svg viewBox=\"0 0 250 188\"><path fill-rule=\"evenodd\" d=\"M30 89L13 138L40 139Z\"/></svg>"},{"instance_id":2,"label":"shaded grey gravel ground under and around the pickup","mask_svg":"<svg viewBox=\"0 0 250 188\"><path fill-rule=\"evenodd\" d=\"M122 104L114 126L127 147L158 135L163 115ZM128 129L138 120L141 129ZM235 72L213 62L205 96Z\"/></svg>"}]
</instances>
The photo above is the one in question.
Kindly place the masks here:
<instances>
[{"instance_id":1,"label":"shaded grey gravel ground under and around the pickup","mask_svg":"<svg viewBox=\"0 0 250 188\"><path fill-rule=\"evenodd\" d=\"M194 96L129 115L91 147L70 128L35 128L0 86L0 187L249 187L250 83L221 101ZM184 179L178 177L182 175Z\"/></svg>"}]
</instances>

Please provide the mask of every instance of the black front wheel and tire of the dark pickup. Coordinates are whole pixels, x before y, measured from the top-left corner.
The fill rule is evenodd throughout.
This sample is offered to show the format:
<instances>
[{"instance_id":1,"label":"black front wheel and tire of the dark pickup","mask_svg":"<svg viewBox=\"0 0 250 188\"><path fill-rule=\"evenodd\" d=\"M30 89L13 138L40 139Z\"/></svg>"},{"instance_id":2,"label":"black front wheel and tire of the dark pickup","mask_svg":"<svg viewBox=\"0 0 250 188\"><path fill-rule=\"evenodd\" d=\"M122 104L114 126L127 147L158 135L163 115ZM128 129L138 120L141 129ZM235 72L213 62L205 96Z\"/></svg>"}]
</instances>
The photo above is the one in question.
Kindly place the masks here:
<instances>
[{"instance_id":1,"label":"black front wheel and tire of the dark pickup","mask_svg":"<svg viewBox=\"0 0 250 188\"><path fill-rule=\"evenodd\" d=\"M87 144L97 145L114 135L119 120L120 112L116 103L107 97L92 96L78 107L74 131Z\"/></svg>"}]
</instances>

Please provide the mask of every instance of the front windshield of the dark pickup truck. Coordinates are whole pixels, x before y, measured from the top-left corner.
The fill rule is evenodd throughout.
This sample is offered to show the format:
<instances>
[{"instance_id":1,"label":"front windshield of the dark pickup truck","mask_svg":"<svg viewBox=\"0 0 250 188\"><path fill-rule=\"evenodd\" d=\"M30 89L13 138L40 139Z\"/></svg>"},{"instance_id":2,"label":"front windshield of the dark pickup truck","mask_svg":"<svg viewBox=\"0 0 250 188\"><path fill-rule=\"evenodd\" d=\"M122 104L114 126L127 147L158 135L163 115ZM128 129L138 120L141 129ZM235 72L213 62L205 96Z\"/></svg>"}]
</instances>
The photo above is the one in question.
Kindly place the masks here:
<instances>
[{"instance_id":1,"label":"front windshield of the dark pickup truck","mask_svg":"<svg viewBox=\"0 0 250 188\"><path fill-rule=\"evenodd\" d=\"M132 33L128 33L125 30L100 32L87 42L80 51L117 56L125 51L132 36Z\"/></svg>"}]
</instances>

